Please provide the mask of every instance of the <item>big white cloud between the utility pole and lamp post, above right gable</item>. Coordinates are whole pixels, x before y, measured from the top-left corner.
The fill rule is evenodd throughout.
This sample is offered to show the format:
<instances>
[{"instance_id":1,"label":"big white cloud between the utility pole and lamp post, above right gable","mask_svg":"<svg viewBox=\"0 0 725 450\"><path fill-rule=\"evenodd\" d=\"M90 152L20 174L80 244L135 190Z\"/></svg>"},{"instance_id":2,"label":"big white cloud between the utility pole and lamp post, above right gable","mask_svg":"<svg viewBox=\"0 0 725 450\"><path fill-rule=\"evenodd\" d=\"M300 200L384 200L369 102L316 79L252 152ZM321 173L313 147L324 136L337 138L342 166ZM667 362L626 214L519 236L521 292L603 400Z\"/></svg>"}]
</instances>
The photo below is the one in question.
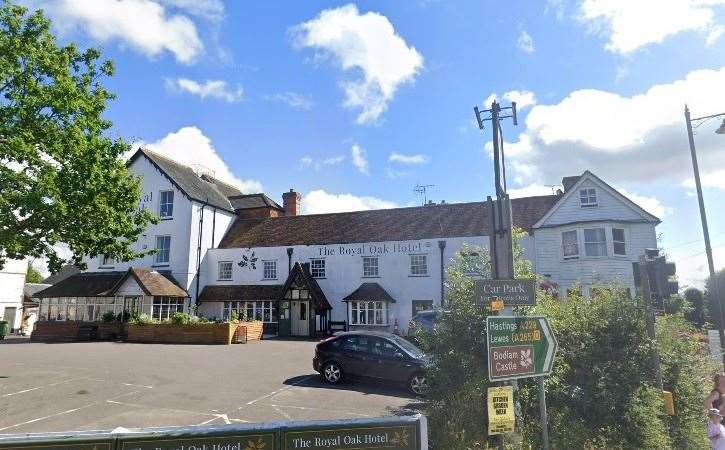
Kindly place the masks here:
<instances>
[{"instance_id":1,"label":"big white cloud between the utility pole and lamp post, above right gable","mask_svg":"<svg viewBox=\"0 0 725 450\"><path fill-rule=\"evenodd\" d=\"M622 96L581 89L560 102L531 108L525 131L506 143L507 164L517 184L545 184L591 169L613 182L690 177L683 108L694 116L721 112L725 68L695 70L684 79ZM714 121L695 137L701 167L725 166L723 137Z\"/></svg>"}]
</instances>

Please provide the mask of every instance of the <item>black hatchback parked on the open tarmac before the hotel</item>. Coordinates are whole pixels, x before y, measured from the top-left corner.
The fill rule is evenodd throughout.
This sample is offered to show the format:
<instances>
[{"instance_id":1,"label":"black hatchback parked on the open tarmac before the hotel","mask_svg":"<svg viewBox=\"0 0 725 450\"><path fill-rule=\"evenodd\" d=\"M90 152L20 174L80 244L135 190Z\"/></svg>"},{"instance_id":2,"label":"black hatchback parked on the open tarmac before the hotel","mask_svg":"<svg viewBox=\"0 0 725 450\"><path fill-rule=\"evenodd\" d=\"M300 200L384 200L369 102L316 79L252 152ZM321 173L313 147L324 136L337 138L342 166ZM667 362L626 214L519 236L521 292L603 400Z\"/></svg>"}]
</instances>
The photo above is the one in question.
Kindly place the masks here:
<instances>
[{"instance_id":1,"label":"black hatchback parked on the open tarmac before the hotel","mask_svg":"<svg viewBox=\"0 0 725 450\"><path fill-rule=\"evenodd\" d=\"M400 336L349 331L317 344L312 366L330 384L367 377L405 383L413 394L421 395L428 388L426 361L418 347Z\"/></svg>"}]
</instances>

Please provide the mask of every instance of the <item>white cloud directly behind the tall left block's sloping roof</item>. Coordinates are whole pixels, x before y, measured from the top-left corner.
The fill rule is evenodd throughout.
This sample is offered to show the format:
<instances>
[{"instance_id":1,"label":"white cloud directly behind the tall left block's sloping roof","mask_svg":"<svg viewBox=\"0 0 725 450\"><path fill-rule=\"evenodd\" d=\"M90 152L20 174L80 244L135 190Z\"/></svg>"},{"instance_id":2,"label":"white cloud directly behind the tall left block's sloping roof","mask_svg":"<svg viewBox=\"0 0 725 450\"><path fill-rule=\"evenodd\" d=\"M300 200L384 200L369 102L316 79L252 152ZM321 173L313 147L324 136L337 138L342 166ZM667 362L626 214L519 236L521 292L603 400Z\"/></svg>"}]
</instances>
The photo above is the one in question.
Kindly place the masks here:
<instances>
[{"instance_id":1,"label":"white cloud directly behind the tall left block's sloping roof","mask_svg":"<svg viewBox=\"0 0 725 450\"><path fill-rule=\"evenodd\" d=\"M215 178L238 187L244 193L262 192L262 183L259 181L244 180L234 175L211 140L197 127L181 128L156 142L141 143L139 147L148 148L189 167L201 165L211 170Z\"/></svg>"}]
</instances>

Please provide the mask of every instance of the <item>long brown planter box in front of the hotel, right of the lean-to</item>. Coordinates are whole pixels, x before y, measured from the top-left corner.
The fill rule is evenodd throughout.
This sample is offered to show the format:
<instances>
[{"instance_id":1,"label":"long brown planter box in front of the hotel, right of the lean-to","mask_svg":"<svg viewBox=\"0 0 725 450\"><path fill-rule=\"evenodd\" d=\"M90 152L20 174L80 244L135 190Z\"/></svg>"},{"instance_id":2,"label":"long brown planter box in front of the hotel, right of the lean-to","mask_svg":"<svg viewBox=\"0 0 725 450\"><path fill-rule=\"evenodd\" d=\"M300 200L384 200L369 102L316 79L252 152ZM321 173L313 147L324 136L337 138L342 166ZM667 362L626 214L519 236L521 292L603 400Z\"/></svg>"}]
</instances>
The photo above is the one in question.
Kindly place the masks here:
<instances>
[{"instance_id":1,"label":"long brown planter box in front of the hotel, right of the lean-to","mask_svg":"<svg viewBox=\"0 0 725 450\"><path fill-rule=\"evenodd\" d=\"M237 324L205 323L175 325L169 323L128 325L129 342L156 344L231 344Z\"/></svg>"}]
</instances>

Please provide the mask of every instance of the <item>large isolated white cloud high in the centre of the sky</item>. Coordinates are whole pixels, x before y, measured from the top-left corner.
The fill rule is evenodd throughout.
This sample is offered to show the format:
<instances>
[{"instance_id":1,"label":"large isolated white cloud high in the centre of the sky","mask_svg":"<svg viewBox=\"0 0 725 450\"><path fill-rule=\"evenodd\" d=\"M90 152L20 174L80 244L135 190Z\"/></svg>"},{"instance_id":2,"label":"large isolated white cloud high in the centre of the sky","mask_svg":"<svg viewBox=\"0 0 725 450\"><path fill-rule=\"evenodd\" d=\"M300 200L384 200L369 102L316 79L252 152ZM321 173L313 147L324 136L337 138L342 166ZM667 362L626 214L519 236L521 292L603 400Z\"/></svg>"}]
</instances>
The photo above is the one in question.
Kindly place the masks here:
<instances>
[{"instance_id":1,"label":"large isolated white cloud high in the centre of the sky","mask_svg":"<svg viewBox=\"0 0 725 450\"><path fill-rule=\"evenodd\" d=\"M396 90L412 82L423 68L423 56L396 32L387 17L360 14L354 4L322 11L293 28L295 45L317 49L343 71L359 71L360 79L342 82L345 106L359 108L360 124L375 122Z\"/></svg>"}]
</instances>

